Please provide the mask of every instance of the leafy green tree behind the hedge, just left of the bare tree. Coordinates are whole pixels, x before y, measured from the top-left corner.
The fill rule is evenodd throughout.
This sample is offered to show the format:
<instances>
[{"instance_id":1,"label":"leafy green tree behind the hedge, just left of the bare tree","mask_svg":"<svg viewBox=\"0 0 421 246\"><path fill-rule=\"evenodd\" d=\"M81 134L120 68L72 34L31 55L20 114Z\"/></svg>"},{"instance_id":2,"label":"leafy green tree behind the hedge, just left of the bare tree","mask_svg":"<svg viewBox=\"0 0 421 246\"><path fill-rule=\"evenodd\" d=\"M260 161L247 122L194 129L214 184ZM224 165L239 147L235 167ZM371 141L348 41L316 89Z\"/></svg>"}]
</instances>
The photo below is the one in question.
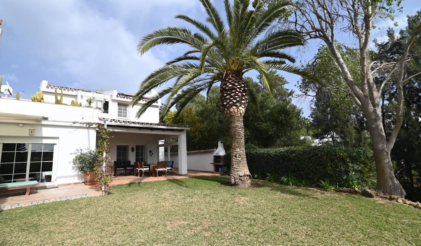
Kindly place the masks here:
<instances>
[{"instance_id":1,"label":"leafy green tree behind the hedge, just left of the bare tree","mask_svg":"<svg viewBox=\"0 0 421 246\"><path fill-rule=\"evenodd\" d=\"M337 45L352 76L359 74L359 56L355 49ZM365 120L357 107L346 81L338 70L335 59L326 45L321 45L314 58L305 67L325 81L334 91L335 96L319 84L302 79L299 89L305 96L312 97L310 117L316 131L314 137L330 139L333 144L349 146L364 145Z\"/></svg>"}]
</instances>

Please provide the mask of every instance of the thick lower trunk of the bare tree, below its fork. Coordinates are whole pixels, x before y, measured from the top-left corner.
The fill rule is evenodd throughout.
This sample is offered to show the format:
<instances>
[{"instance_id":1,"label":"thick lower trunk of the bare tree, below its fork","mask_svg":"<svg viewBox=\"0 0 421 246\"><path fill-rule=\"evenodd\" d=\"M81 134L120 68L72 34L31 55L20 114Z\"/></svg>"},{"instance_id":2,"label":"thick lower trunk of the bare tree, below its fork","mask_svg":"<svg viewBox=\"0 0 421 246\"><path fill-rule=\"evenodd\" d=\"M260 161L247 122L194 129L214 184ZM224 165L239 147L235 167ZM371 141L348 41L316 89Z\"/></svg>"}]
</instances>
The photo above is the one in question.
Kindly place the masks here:
<instances>
[{"instance_id":1,"label":"thick lower trunk of the bare tree, below its fork","mask_svg":"<svg viewBox=\"0 0 421 246\"><path fill-rule=\"evenodd\" d=\"M381 115L367 117L367 128L373 142L374 159L376 161L376 190L387 195L405 197L405 190L394 175L393 164L384 133Z\"/></svg>"}]
</instances>

